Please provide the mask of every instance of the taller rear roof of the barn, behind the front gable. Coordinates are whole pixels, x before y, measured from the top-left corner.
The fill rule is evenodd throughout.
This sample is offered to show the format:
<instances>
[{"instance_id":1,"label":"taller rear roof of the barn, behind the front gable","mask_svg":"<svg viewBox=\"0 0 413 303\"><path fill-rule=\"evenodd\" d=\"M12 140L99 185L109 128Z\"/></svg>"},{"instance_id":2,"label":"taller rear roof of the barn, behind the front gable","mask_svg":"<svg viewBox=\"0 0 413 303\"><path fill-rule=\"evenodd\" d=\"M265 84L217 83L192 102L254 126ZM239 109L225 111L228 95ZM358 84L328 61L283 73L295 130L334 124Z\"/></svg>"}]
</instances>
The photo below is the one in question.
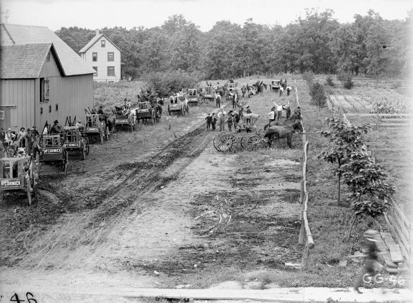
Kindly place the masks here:
<instances>
[{"instance_id":1,"label":"taller rear roof of the barn, behind the front gable","mask_svg":"<svg viewBox=\"0 0 413 303\"><path fill-rule=\"evenodd\" d=\"M95 72L92 67L87 66L85 61L49 28L2 23L0 26L0 36L2 46L53 43L65 76L93 74Z\"/></svg>"}]
</instances>

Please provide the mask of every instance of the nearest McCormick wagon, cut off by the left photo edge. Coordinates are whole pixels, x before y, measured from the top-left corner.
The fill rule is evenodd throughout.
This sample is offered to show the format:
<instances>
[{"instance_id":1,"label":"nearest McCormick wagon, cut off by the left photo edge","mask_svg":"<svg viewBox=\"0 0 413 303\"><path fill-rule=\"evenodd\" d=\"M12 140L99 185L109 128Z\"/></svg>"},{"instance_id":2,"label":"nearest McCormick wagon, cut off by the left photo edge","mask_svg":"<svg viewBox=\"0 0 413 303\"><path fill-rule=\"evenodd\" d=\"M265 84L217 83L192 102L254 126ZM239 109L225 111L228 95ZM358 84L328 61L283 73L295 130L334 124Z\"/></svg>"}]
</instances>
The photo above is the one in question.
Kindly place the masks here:
<instances>
[{"instance_id":1,"label":"nearest McCormick wagon, cut off by the left photo edge","mask_svg":"<svg viewBox=\"0 0 413 303\"><path fill-rule=\"evenodd\" d=\"M0 192L3 196L6 191L24 191L31 205L38 179L38 166L33 158L0 159Z\"/></svg>"}]
</instances>

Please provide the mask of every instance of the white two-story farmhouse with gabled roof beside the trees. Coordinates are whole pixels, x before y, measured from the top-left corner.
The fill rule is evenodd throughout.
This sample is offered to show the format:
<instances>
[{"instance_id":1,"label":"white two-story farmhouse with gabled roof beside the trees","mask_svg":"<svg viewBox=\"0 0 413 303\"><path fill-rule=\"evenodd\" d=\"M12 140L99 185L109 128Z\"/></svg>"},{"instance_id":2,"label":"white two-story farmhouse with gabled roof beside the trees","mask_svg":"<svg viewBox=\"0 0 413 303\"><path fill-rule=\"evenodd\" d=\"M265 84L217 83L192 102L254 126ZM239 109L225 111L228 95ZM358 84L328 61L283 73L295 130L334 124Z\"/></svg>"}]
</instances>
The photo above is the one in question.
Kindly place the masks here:
<instances>
[{"instance_id":1,"label":"white two-story farmhouse with gabled roof beside the trees","mask_svg":"<svg viewBox=\"0 0 413 303\"><path fill-rule=\"evenodd\" d=\"M96 36L79 51L86 64L96 71L93 80L100 82L120 81L120 53L120 49L98 30Z\"/></svg>"}]
</instances>

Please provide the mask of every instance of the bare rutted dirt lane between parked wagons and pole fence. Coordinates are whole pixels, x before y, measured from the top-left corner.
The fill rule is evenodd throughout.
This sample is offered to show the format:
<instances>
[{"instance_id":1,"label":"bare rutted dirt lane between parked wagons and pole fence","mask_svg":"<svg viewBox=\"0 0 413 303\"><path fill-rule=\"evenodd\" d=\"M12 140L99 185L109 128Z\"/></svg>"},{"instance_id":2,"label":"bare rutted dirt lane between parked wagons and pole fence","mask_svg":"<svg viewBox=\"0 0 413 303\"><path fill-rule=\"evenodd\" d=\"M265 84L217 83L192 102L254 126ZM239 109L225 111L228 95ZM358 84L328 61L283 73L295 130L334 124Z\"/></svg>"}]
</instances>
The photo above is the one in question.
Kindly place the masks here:
<instances>
[{"instance_id":1,"label":"bare rutted dirt lane between parked wagons and pole fence","mask_svg":"<svg viewBox=\"0 0 413 303\"><path fill-rule=\"evenodd\" d=\"M222 154L203 119L118 134L71 160L67 178L43 176L32 207L2 201L3 291L262 289L277 286L266 273L297 271L285 262L301 257L301 138L292 150Z\"/></svg>"}]
</instances>

